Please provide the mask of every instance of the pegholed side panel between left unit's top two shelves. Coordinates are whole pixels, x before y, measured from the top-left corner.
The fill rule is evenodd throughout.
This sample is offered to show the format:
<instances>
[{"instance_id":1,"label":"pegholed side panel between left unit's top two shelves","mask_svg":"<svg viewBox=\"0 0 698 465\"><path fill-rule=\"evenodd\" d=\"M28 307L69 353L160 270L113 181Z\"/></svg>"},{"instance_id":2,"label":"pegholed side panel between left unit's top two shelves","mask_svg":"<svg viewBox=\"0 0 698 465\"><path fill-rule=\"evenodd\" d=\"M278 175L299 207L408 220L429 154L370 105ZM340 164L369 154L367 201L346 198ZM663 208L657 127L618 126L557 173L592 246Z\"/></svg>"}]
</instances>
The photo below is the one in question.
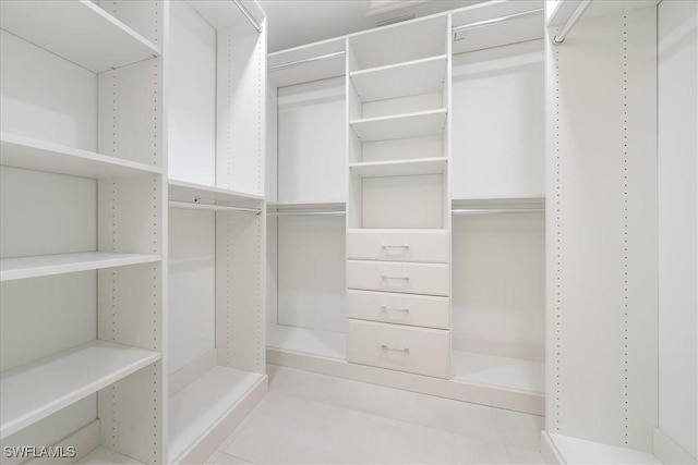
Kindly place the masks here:
<instances>
[{"instance_id":1,"label":"pegholed side panel between left unit's top two shelves","mask_svg":"<svg viewBox=\"0 0 698 465\"><path fill-rule=\"evenodd\" d=\"M163 59L99 74L97 151L163 167Z\"/></svg>"}]
</instances>

